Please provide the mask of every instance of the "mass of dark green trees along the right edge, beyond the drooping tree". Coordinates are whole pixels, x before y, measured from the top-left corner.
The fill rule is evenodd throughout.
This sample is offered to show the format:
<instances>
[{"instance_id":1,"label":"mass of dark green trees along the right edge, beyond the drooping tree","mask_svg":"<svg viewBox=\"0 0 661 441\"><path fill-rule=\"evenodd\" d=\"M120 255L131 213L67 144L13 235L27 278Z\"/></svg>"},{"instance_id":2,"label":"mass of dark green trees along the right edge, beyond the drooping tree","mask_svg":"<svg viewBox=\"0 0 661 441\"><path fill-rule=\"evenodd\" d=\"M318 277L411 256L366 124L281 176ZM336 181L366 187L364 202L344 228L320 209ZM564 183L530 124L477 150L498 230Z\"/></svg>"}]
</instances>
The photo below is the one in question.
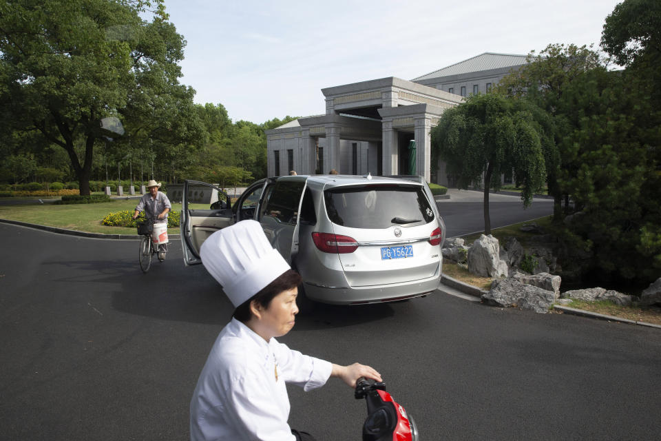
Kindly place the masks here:
<instances>
[{"instance_id":1,"label":"mass of dark green trees along the right edge, beyond the drooping tree","mask_svg":"<svg viewBox=\"0 0 661 441\"><path fill-rule=\"evenodd\" d=\"M606 19L602 47L549 45L498 92L552 118L556 200L566 275L649 283L661 274L661 3L627 0Z\"/></svg>"}]
</instances>

